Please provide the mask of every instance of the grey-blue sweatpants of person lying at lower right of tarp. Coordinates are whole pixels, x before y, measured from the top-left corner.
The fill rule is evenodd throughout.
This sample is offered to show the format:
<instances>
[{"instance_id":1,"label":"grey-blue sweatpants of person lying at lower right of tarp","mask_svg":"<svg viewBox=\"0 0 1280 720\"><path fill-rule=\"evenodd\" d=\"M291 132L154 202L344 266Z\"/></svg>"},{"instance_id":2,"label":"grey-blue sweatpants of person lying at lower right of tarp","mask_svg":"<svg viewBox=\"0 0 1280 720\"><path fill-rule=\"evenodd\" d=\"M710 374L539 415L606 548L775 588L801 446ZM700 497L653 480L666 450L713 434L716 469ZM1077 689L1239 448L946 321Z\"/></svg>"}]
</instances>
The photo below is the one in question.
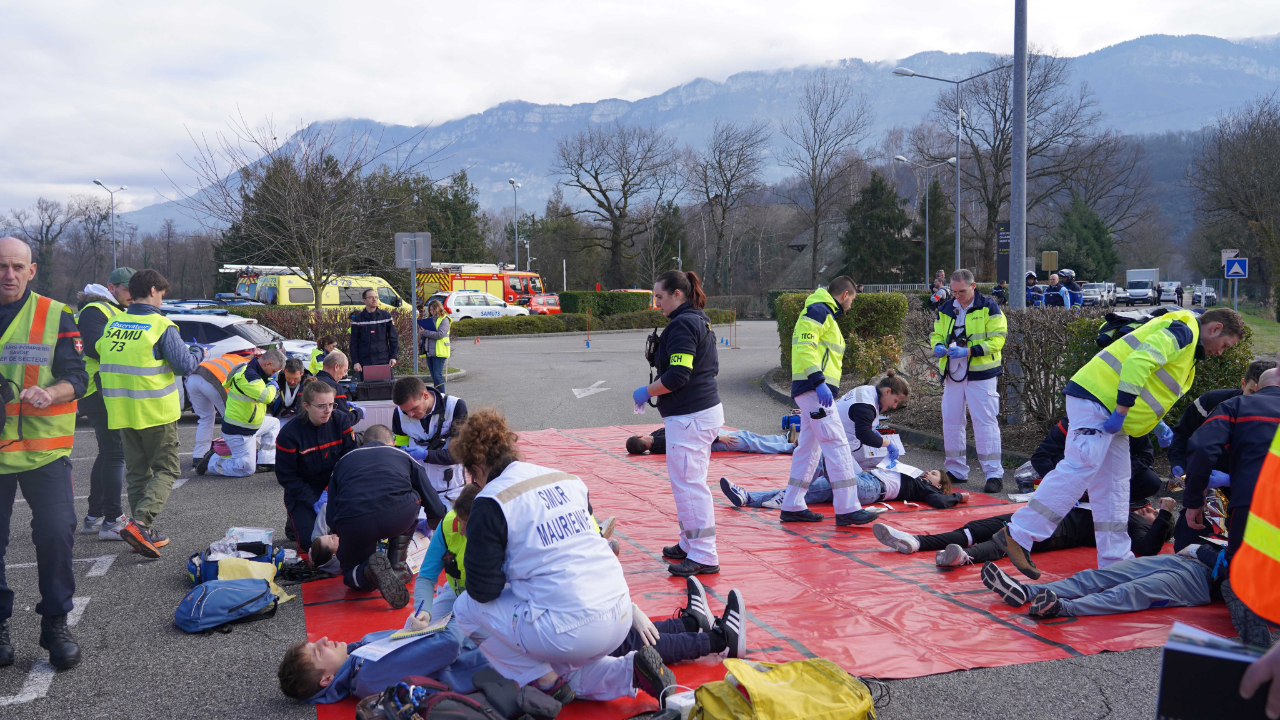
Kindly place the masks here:
<instances>
[{"instance_id":1,"label":"grey-blue sweatpants of person lying at lower right of tarp","mask_svg":"<svg viewBox=\"0 0 1280 720\"><path fill-rule=\"evenodd\" d=\"M1151 607L1208 605L1212 573L1199 560L1179 555L1130 557L1065 580L1030 587L1051 589L1068 615L1115 615Z\"/></svg>"}]
</instances>

